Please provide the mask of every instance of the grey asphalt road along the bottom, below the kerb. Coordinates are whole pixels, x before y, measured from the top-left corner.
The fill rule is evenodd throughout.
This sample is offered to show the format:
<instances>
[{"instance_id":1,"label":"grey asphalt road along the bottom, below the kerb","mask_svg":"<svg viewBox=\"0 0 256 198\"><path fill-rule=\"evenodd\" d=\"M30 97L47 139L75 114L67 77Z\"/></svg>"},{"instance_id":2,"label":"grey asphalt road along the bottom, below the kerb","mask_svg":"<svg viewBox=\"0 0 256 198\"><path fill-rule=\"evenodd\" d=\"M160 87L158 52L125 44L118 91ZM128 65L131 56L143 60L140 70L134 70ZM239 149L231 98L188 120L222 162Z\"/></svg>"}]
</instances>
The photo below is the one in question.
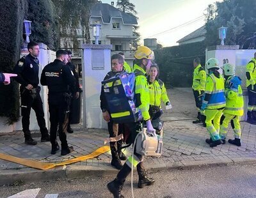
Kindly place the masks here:
<instances>
[{"instance_id":1,"label":"grey asphalt road along the bottom, below the kerb","mask_svg":"<svg viewBox=\"0 0 256 198\"><path fill-rule=\"evenodd\" d=\"M255 165L198 167L185 170L166 170L150 173L156 183L152 187L137 188L138 176L134 172L134 197L256 197ZM0 187L0 197L8 197L23 190L41 188L36 198L47 194L59 197L111 197L106 184L114 176L95 176L84 179L58 180L42 183L21 181ZM131 175L122 194L131 195ZM26 196L25 196L26 197Z\"/></svg>"}]
</instances>

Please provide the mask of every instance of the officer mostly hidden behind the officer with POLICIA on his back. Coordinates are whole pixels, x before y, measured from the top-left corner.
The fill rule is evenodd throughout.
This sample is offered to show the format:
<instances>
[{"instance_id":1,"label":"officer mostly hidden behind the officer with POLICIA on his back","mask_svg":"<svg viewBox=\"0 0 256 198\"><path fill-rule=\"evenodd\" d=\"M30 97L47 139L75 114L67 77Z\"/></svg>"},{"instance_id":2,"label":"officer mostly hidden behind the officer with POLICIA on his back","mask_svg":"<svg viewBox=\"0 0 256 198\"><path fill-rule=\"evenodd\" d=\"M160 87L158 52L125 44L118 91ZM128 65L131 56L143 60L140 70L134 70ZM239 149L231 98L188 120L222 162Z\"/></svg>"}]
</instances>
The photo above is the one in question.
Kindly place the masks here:
<instances>
[{"instance_id":1,"label":"officer mostly hidden behind the officer with POLICIA on his back","mask_svg":"<svg viewBox=\"0 0 256 198\"><path fill-rule=\"evenodd\" d=\"M76 100L77 98L79 98L79 95L80 95L80 86L79 86L79 77L78 77L78 74L77 74L77 71L76 71L76 66L74 66L73 63L71 63L71 60L72 60L72 52L70 50L66 50L68 52L68 63L67 65L69 66L70 70L73 72L74 74L74 77L75 77L75 92L74 93L71 93L72 95L72 100L71 100L71 103L70 103L70 114L69 114L69 118L68 118L68 128L67 128L67 132L68 133L73 133L73 129L71 128L70 126L70 123L71 123L71 119L72 119L72 103L74 102L74 100Z\"/></svg>"}]
</instances>

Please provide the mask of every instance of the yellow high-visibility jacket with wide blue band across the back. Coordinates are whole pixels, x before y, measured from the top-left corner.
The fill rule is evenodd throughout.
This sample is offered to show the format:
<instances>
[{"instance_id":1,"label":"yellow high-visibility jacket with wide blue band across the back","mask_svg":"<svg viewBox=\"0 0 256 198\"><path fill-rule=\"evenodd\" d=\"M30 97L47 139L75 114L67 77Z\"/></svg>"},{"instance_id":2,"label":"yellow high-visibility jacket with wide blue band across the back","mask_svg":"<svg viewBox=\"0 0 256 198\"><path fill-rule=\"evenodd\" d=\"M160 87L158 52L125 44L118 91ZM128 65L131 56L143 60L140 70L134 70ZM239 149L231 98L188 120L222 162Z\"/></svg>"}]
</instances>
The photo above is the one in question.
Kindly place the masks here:
<instances>
[{"instance_id":1,"label":"yellow high-visibility jacket with wide blue band across the back","mask_svg":"<svg viewBox=\"0 0 256 198\"><path fill-rule=\"evenodd\" d=\"M220 109L225 107L225 85L222 75L220 75L220 78L217 78L213 73L207 76L205 94L211 95L208 102L203 100L203 103L207 103L206 109Z\"/></svg>"}]
</instances>

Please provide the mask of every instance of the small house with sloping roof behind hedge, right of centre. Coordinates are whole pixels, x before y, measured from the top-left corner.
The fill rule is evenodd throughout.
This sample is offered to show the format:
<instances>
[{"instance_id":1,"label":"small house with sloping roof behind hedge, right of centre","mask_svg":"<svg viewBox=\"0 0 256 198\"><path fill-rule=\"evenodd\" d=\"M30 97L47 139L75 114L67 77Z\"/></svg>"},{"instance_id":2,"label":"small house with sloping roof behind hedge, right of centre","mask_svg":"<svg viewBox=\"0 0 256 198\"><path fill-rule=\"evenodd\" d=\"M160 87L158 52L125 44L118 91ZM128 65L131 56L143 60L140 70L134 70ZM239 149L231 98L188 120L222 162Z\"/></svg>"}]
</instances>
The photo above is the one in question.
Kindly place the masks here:
<instances>
[{"instance_id":1,"label":"small house with sloping roof behind hedge, right of centre","mask_svg":"<svg viewBox=\"0 0 256 198\"><path fill-rule=\"evenodd\" d=\"M205 26L202 26L193 31L193 33L190 33L187 36L178 40L177 43L179 43L179 45L183 45L188 43L202 42L203 40L205 40L205 34Z\"/></svg>"}]
</instances>

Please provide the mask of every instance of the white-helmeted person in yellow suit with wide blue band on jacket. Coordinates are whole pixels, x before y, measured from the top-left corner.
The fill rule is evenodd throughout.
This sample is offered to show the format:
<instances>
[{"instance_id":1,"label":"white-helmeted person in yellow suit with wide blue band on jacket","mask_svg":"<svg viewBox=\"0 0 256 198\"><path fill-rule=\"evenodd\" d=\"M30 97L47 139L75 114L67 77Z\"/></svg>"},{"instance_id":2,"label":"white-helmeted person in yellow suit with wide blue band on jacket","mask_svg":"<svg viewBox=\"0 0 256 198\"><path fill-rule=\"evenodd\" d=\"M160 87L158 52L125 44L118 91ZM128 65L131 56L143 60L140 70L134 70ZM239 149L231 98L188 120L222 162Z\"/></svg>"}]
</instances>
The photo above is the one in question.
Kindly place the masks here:
<instances>
[{"instance_id":1,"label":"white-helmeted person in yellow suit with wide blue band on jacket","mask_svg":"<svg viewBox=\"0 0 256 198\"><path fill-rule=\"evenodd\" d=\"M210 134L210 139L205 142L211 147L222 144L220 139L220 119L226 105L224 79L218 70L219 62L216 58L210 58L205 66L209 71L206 79L204 99L201 112L205 114L205 124Z\"/></svg>"}]
</instances>

